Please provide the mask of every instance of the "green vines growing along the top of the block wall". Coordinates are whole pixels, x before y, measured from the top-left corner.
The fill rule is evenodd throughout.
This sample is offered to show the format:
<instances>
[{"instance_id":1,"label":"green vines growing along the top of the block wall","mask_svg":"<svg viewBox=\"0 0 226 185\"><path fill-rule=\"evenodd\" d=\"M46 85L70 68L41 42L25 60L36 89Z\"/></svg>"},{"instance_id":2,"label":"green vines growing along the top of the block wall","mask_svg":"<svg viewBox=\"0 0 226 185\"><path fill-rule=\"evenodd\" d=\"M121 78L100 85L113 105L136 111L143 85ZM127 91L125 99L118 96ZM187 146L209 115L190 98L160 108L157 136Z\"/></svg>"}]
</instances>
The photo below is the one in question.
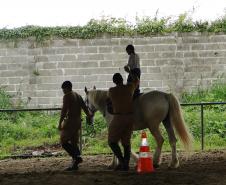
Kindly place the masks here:
<instances>
[{"instance_id":1,"label":"green vines growing along the top of the block wall","mask_svg":"<svg viewBox=\"0 0 226 185\"><path fill-rule=\"evenodd\" d=\"M125 19L103 18L101 20L90 20L84 26L71 27L41 27L25 26L14 29L0 29L1 40L16 40L34 37L36 41L51 38L91 39L102 34L112 36L135 36L155 35L171 32L224 32L226 33L226 17L213 22L193 22L186 14L180 15L176 21L170 18L142 18L137 19L132 25Z\"/></svg>"}]
</instances>

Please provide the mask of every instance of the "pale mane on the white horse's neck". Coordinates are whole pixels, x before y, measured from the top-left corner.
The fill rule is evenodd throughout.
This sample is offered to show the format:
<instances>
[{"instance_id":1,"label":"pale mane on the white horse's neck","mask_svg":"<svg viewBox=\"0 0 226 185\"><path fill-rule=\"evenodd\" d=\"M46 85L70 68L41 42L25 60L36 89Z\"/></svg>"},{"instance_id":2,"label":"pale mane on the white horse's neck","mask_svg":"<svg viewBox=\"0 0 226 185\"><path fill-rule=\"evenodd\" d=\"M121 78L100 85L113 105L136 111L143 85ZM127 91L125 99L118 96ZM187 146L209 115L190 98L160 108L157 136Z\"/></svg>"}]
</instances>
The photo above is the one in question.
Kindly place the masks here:
<instances>
[{"instance_id":1,"label":"pale mane on the white horse's neck","mask_svg":"<svg viewBox=\"0 0 226 185\"><path fill-rule=\"evenodd\" d=\"M89 98L95 106L103 109L106 106L107 92L107 90L91 90L89 91Z\"/></svg>"}]
</instances>

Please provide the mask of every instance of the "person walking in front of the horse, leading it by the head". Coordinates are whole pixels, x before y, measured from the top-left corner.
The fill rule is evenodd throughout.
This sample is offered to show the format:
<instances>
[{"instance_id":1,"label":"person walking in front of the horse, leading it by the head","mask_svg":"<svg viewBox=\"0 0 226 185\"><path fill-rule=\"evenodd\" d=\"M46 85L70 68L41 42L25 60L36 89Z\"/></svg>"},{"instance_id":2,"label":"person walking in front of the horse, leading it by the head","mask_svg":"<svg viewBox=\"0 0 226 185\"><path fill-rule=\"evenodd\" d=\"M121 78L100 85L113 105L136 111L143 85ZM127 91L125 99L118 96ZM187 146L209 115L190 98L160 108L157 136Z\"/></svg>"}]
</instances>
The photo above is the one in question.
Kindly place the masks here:
<instances>
[{"instance_id":1,"label":"person walking in front of the horse, leading it by the head","mask_svg":"<svg viewBox=\"0 0 226 185\"><path fill-rule=\"evenodd\" d=\"M59 120L60 142L62 147L72 157L72 164L67 171L77 170L78 164L82 162L81 153L78 147L79 130L81 129L81 110L87 116L91 116L82 97L72 91L70 81L63 82L61 86L64 97L63 107Z\"/></svg>"}]
</instances>

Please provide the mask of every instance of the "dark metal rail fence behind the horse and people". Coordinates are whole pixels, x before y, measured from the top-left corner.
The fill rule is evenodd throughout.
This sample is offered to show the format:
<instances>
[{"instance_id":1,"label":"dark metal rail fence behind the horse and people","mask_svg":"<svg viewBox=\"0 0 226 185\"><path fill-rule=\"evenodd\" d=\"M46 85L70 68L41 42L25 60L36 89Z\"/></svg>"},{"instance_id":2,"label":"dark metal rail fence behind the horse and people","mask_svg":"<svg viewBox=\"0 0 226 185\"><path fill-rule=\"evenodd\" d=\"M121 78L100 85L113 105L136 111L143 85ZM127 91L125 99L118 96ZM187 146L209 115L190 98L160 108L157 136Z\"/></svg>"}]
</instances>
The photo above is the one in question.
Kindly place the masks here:
<instances>
[{"instance_id":1,"label":"dark metal rail fence behind the horse and people","mask_svg":"<svg viewBox=\"0 0 226 185\"><path fill-rule=\"evenodd\" d=\"M201 102L201 103L181 103L181 106L200 106L201 121L201 149L204 150L204 106L226 105L226 102ZM0 109L1 112L37 112L37 111L59 111L61 108L33 108L33 109ZM82 151L82 134L80 132L80 148Z\"/></svg>"}]
</instances>

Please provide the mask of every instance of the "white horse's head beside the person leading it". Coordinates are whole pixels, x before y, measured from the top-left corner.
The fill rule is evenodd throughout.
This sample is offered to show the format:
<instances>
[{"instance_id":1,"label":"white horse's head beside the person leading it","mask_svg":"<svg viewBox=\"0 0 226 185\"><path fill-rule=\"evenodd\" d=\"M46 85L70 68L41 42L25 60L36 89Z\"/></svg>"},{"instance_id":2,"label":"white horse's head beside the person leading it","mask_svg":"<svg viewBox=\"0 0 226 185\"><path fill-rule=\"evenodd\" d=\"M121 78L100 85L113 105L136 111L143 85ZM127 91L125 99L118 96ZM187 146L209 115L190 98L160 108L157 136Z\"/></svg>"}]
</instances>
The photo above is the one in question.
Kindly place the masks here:
<instances>
[{"instance_id":1,"label":"white horse's head beside the person leading it","mask_svg":"<svg viewBox=\"0 0 226 185\"><path fill-rule=\"evenodd\" d=\"M95 90L96 87L94 86L93 87L93 90ZM89 125L93 125L93 117L97 111L97 108L94 106L94 103L93 103L93 100L92 100L92 96L91 96L91 91L88 91L88 89L85 87L85 93L86 93L86 97L85 97L85 104L88 108L88 110L92 113L92 117L88 117L86 116L86 122L89 124Z\"/></svg>"}]
</instances>

